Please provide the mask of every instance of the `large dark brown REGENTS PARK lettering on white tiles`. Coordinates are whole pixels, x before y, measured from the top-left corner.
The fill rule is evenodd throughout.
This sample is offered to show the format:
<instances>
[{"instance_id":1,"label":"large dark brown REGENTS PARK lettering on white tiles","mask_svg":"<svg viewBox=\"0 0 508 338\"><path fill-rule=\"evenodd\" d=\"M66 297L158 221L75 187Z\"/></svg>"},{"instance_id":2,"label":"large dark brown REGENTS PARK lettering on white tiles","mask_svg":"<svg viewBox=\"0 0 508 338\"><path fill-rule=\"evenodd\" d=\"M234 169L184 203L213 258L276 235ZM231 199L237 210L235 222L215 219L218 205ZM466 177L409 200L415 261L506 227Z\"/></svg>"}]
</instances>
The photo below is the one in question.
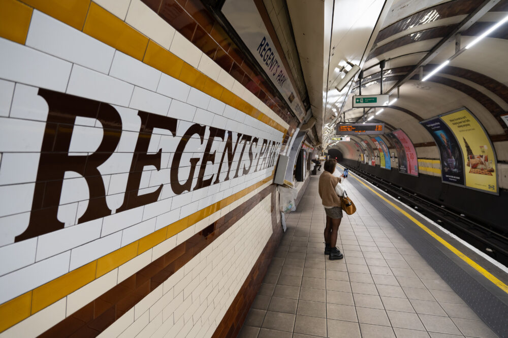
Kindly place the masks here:
<instances>
[{"instance_id":1,"label":"large dark brown REGENTS PARK lettering on white tiles","mask_svg":"<svg viewBox=\"0 0 508 338\"><path fill-rule=\"evenodd\" d=\"M98 168L110 158L119 144L122 134L122 120L118 111L107 103L50 90L40 89L39 95L48 103L49 114L42 142L34 200L28 227L15 238L16 242L64 228L65 223L58 220L57 212L63 178L68 171L76 172L84 177L89 190L88 205L84 213L79 217L78 223L108 216L112 213L106 203L105 185ZM141 119L141 128L134 149L131 167L130 170L128 169L129 176L123 204L116 212L157 201L161 195L163 184L158 185L156 190L150 193L143 194L140 190L142 173L145 166L153 166L157 171L161 170L162 149L159 148L156 153L148 152L152 132L154 128L165 129L176 138L177 119L145 111L138 111L138 116ZM102 124L102 141L97 151L91 154L84 153L82 156L69 154L77 117L96 119ZM209 131L209 137L205 140L206 131ZM234 134L236 134L236 137L233 136ZM181 163L182 155L185 146L192 138L199 139L200 144L204 146L204 152L201 158L190 158L188 178L184 181L179 181L178 172L180 166L188 166L188 163ZM190 127L188 127L183 136L177 138L177 142L176 149L171 149L171 152L174 152L174 156L172 162L170 162L170 179L167 180L176 195L219 183L219 175L221 172L226 172L226 166L227 173L226 177L222 180L223 182L230 178L247 174L252 166L254 166L253 171L270 167L275 161L277 148L280 145L280 143L275 141L263 140L258 137L233 133L224 129L200 124L190 124ZM215 151L211 151L214 142L225 145L223 149L219 149L223 150L223 152L218 170L205 179L206 167L213 166L215 156L217 155L217 159L220 156ZM248 143L250 143L249 146L247 146ZM253 146L256 145L257 147L258 144L260 144L261 148L259 152L253 154ZM231 171L233 157L237 152L241 152L238 165L236 170ZM248 154L248 161L244 161L243 168L240 168L244 153L246 153L245 156ZM226 157L227 162L225 162ZM198 168L200 160L201 164ZM196 170L199 171L196 172ZM198 175L196 183L193 186L195 173Z\"/></svg>"}]
</instances>

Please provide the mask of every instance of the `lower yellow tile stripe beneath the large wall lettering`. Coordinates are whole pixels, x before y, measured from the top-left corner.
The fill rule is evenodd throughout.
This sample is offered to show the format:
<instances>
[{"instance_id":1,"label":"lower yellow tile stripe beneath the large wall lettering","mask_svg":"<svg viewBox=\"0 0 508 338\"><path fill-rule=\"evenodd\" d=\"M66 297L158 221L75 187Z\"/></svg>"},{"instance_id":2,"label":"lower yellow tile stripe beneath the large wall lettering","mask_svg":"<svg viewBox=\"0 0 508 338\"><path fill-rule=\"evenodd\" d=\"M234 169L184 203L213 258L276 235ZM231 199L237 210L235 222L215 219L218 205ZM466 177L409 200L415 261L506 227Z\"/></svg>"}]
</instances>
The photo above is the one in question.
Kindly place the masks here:
<instances>
[{"instance_id":1,"label":"lower yellow tile stripe beneath the large wall lettering","mask_svg":"<svg viewBox=\"0 0 508 338\"><path fill-rule=\"evenodd\" d=\"M169 226L149 234L129 245L108 253L85 266L60 276L34 290L17 296L0 305L0 332L19 323L23 319L66 297L80 287L90 283L106 273L118 268L137 255L153 248L155 245L193 226L200 220L230 205L245 195L255 191L263 184L270 182L273 174L242 191L220 200L204 209L184 217ZM92 299L90 299L91 301Z\"/></svg>"}]
</instances>

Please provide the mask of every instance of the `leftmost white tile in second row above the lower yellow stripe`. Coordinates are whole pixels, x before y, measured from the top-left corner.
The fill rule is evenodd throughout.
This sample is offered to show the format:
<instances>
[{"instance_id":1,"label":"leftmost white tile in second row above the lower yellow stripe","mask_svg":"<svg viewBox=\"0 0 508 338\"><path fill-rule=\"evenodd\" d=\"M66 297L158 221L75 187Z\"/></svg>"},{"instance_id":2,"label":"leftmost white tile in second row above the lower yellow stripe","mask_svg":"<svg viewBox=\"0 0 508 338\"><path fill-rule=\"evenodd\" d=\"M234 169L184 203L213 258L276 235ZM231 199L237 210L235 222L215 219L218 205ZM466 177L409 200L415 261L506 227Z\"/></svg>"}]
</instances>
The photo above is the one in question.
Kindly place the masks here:
<instances>
[{"instance_id":1,"label":"leftmost white tile in second row above the lower yellow stripe","mask_svg":"<svg viewBox=\"0 0 508 338\"><path fill-rule=\"evenodd\" d=\"M176 239L175 239L176 242ZM0 276L35 262L37 238L0 247Z\"/></svg>"}]
</instances>

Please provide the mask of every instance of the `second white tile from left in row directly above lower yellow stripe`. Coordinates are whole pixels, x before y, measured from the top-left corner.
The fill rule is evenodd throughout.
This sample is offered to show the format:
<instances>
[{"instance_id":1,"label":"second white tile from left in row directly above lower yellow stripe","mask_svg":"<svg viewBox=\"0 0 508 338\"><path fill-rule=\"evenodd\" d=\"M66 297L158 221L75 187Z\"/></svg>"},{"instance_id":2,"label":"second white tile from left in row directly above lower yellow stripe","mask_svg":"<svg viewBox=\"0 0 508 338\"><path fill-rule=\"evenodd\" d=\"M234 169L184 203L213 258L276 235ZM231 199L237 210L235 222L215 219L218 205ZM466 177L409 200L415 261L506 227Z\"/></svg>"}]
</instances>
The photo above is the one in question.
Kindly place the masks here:
<instances>
[{"instance_id":1,"label":"second white tile from left in row directly above lower yellow stripe","mask_svg":"<svg viewBox=\"0 0 508 338\"><path fill-rule=\"evenodd\" d=\"M99 238L90 243L83 244L71 250L70 270L79 268L89 262L100 258L120 248L122 233L116 232L109 236Z\"/></svg>"}]
</instances>

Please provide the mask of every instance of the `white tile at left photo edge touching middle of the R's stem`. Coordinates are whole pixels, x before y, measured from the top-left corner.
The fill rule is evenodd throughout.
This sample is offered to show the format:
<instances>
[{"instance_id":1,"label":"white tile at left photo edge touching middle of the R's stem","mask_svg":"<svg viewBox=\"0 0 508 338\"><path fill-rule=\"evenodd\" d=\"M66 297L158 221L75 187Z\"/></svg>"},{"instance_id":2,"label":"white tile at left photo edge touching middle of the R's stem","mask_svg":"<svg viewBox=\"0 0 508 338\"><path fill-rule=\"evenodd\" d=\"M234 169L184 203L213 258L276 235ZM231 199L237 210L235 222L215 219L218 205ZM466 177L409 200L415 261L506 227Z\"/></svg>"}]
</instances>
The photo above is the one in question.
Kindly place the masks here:
<instances>
[{"instance_id":1,"label":"white tile at left photo edge touching middle of the R's stem","mask_svg":"<svg viewBox=\"0 0 508 338\"><path fill-rule=\"evenodd\" d=\"M4 153L0 164L0 185L35 182L38 153Z\"/></svg>"}]
</instances>

